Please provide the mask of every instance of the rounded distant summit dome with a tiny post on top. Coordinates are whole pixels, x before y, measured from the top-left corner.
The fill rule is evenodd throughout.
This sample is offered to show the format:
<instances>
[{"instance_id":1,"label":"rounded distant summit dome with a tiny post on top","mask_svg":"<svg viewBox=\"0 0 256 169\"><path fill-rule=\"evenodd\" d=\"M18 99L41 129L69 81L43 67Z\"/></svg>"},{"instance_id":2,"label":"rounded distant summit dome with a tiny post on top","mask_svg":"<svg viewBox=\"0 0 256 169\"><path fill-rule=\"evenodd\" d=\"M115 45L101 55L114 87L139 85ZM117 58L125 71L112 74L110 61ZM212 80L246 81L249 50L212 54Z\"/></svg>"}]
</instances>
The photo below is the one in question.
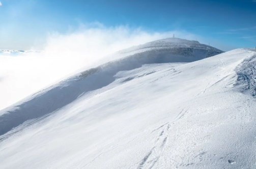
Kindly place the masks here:
<instances>
[{"instance_id":1,"label":"rounded distant summit dome with a tiny post on top","mask_svg":"<svg viewBox=\"0 0 256 169\"><path fill-rule=\"evenodd\" d=\"M198 41L175 37L155 40L119 52L119 54L125 56L136 55L139 57L140 55L144 55L144 57L148 57L148 60L157 58L155 62L163 63L192 62L220 53L223 53L223 51L200 44Z\"/></svg>"}]
</instances>

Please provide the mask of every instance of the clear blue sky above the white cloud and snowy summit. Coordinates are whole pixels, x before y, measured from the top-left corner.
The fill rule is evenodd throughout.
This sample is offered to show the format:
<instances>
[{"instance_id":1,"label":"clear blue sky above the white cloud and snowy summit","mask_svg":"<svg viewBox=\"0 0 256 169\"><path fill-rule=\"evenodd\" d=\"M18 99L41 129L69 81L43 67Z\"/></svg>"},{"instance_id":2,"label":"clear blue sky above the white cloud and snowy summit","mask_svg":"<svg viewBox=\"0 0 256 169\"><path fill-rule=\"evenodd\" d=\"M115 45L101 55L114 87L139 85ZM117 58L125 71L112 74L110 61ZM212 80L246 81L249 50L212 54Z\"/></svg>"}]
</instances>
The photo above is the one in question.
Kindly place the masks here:
<instances>
[{"instance_id":1,"label":"clear blue sky above the white cloud and snowy summit","mask_svg":"<svg viewBox=\"0 0 256 169\"><path fill-rule=\"evenodd\" d=\"M81 24L187 31L224 50L256 46L256 0L0 0L0 49L28 49ZM214 44L214 43L213 43ZM210 43L211 45L211 43Z\"/></svg>"}]
</instances>

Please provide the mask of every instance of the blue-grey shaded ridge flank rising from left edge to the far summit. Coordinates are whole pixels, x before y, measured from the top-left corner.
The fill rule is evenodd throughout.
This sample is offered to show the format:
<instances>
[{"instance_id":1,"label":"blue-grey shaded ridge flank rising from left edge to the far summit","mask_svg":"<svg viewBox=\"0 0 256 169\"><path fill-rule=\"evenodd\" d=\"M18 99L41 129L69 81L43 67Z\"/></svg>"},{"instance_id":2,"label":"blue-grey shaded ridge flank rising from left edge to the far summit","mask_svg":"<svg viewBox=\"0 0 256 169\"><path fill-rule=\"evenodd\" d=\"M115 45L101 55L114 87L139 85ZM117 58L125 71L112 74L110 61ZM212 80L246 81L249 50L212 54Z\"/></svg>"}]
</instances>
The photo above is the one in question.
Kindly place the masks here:
<instances>
[{"instance_id":1,"label":"blue-grey shaded ridge flank rising from left edge to the far summit","mask_svg":"<svg viewBox=\"0 0 256 169\"><path fill-rule=\"evenodd\" d=\"M78 73L21 101L14 106L16 108L11 107L11 109L7 108L2 111L4 114L0 116L0 135L7 133L26 120L47 115L73 102L83 94L109 85L115 80L115 75L119 71L132 70L143 64L191 62L221 53L215 48L198 42L178 38L153 41L141 45L139 48L147 48L147 50L143 52L132 50L128 56L126 53L124 56L121 54L121 57L120 54L117 54L116 57L120 58L115 61Z\"/></svg>"}]
</instances>

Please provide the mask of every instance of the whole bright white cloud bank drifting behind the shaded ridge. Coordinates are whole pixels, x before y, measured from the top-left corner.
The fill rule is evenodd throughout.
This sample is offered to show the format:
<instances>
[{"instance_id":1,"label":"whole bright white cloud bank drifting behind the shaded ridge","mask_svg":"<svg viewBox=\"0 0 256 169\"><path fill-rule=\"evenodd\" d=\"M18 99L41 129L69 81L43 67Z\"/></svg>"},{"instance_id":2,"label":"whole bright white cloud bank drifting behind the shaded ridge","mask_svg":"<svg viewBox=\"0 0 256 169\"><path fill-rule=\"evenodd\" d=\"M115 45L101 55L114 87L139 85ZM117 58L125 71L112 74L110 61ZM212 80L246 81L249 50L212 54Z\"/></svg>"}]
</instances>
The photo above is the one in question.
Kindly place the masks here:
<instances>
[{"instance_id":1,"label":"whole bright white cloud bank drifting behind the shaded ridge","mask_svg":"<svg viewBox=\"0 0 256 169\"><path fill-rule=\"evenodd\" d=\"M195 39L180 32L149 32L128 26L81 26L66 34L50 33L44 52L27 52L14 56L0 54L0 109L77 71L114 59L111 53L165 37ZM109 58L109 59L106 59Z\"/></svg>"}]
</instances>

